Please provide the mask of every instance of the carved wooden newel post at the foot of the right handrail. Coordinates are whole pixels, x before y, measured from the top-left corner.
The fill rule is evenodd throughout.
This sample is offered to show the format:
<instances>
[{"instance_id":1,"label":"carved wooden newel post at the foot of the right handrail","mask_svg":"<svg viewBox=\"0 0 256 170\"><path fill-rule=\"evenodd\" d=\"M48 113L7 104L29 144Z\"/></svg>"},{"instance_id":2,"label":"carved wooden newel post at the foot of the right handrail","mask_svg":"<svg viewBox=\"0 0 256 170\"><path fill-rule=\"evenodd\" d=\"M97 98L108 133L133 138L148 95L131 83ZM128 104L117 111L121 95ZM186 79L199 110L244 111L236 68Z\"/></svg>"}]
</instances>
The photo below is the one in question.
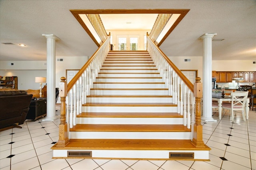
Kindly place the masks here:
<instances>
[{"instance_id":1,"label":"carved wooden newel post at the foot of the right handrail","mask_svg":"<svg viewBox=\"0 0 256 170\"><path fill-rule=\"evenodd\" d=\"M204 148L203 127L201 125L201 98L203 97L201 78L197 77L194 83L194 96L196 98L196 115L192 144L195 147Z\"/></svg>"}]
</instances>

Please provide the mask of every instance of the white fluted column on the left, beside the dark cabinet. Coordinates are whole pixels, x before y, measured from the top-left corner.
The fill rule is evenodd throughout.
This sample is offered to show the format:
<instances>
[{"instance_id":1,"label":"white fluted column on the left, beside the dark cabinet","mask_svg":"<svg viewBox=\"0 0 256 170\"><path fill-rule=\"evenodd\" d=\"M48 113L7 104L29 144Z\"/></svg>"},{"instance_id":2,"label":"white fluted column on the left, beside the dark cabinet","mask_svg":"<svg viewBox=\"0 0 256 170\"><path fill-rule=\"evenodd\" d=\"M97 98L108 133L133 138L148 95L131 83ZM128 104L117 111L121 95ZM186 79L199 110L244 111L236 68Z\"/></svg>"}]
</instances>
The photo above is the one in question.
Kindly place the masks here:
<instances>
[{"instance_id":1,"label":"white fluted column on the left, beside the dark cabinet","mask_svg":"<svg viewBox=\"0 0 256 170\"><path fill-rule=\"evenodd\" d=\"M42 121L57 119L55 110L55 41L59 38L53 34L42 34L47 41L47 115Z\"/></svg>"}]
</instances>

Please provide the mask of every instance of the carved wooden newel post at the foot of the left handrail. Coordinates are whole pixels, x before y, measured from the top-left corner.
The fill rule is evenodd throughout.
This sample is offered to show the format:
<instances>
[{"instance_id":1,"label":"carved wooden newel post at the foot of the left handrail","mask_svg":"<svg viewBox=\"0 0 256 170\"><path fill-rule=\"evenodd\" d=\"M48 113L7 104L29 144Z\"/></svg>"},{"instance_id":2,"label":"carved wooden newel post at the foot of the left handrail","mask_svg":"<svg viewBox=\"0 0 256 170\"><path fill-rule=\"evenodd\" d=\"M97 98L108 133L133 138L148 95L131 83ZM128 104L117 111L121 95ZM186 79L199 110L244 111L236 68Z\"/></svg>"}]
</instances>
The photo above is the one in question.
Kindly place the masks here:
<instances>
[{"instance_id":1,"label":"carved wooden newel post at the foot of the left handrail","mask_svg":"<svg viewBox=\"0 0 256 170\"><path fill-rule=\"evenodd\" d=\"M59 95L60 95L60 125L59 125L59 140L57 147L65 147L68 142L68 124L66 122L66 96L67 96L67 82L65 77L60 78Z\"/></svg>"}]
</instances>

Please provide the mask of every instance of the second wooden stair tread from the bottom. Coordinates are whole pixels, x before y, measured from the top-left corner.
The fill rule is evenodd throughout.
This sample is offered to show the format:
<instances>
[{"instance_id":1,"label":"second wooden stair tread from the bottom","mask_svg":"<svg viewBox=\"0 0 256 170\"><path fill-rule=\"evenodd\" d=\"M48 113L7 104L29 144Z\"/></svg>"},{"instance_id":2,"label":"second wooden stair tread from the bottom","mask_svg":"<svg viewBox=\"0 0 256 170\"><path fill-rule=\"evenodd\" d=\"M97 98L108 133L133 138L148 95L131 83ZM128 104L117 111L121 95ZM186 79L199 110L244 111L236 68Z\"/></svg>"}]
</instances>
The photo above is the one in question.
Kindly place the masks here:
<instances>
[{"instance_id":1,"label":"second wooden stair tread from the bottom","mask_svg":"<svg viewBox=\"0 0 256 170\"><path fill-rule=\"evenodd\" d=\"M184 125L76 124L70 132L191 132Z\"/></svg>"}]
</instances>

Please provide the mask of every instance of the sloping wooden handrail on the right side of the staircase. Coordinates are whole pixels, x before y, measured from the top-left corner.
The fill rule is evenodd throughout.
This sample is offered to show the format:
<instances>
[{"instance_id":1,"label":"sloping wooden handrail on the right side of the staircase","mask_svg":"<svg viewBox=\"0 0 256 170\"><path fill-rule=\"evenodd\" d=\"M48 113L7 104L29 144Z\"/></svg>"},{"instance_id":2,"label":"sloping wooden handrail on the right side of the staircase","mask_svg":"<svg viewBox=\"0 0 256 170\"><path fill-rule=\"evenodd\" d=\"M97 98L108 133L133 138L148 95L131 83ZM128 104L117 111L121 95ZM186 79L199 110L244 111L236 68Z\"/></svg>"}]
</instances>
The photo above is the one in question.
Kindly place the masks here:
<instances>
[{"instance_id":1,"label":"sloping wooden handrail on the right side of the staircase","mask_svg":"<svg viewBox=\"0 0 256 170\"><path fill-rule=\"evenodd\" d=\"M147 35L148 36L148 35ZM174 69L174 71L178 74L178 76L180 76L180 78L184 81L184 83L188 86L188 88L191 90L191 92L194 93L194 85L192 84L192 82L190 82L190 80L188 80L188 78L186 78L186 76L184 76L184 74L178 69L178 67L172 63L172 61L162 52L162 50L152 41L152 39L150 39L150 37L148 36L148 39L152 42L152 44L154 45L154 47L156 47L156 49L158 49L158 51L160 52L160 54L164 57L164 59L170 64L170 66Z\"/></svg>"}]
</instances>

